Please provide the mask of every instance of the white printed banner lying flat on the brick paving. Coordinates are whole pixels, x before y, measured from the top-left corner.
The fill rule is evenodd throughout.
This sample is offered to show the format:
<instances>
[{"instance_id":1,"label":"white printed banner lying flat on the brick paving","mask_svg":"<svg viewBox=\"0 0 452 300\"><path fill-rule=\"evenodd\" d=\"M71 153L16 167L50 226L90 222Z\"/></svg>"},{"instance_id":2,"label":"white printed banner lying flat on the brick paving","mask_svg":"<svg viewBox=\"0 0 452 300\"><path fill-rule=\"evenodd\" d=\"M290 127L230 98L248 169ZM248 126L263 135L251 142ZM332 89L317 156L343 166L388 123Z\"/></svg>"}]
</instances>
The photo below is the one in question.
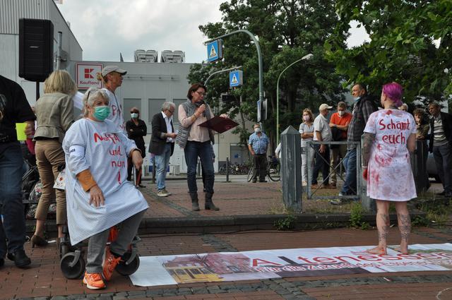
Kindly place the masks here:
<instances>
[{"instance_id":1,"label":"white printed banner lying flat on the brick paving","mask_svg":"<svg viewBox=\"0 0 452 300\"><path fill-rule=\"evenodd\" d=\"M141 287L192 282L452 270L452 244L410 245L409 254L365 252L373 246L298 248L180 256L143 256L130 276Z\"/></svg>"}]
</instances>

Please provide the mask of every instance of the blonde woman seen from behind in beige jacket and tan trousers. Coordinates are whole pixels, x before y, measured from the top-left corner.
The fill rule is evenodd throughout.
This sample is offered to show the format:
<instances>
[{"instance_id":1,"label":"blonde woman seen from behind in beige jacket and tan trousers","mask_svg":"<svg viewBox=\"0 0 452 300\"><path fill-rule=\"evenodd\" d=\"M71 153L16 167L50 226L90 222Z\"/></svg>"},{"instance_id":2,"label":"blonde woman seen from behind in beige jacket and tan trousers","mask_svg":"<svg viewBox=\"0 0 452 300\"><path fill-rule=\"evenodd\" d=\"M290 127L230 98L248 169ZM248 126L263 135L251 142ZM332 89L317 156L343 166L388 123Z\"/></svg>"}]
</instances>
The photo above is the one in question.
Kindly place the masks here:
<instances>
[{"instance_id":1,"label":"blonde woman seen from behind in beige jacket and tan trousers","mask_svg":"<svg viewBox=\"0 0 452 300\"><path fill-rule=\"evenodd\" d=\"M44 81L44 95L36 102L37 128L35 132L36 164L42 182L42 195L36 209L36 229L31 246L46 246L44 224L50 203L57 200L58 236L63 236L66 224L66 195L53 188L59 168L64 165L62 143L66 131L73 124L73 101L76 83L68 72L57 70Z\"/></svg>"}]
</instances>

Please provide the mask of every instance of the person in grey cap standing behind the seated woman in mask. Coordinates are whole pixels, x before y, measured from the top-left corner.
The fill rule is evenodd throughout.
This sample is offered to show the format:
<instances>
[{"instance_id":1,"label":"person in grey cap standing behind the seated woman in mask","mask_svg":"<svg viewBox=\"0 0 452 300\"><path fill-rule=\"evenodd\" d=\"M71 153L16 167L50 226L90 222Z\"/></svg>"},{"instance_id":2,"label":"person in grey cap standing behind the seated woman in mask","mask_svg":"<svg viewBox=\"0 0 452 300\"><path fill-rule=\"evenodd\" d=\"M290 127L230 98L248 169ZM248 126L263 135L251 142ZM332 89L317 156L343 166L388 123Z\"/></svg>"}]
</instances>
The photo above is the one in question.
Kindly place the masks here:
<instances>
[{"instance_id":1,"label":"person in grey cap standing behind the seated woman in mask","mask_svg":"<svg viewBox=\"0 0 452 300\"><path fill-rule=\"evenodd\" d=\"M122 112L122 105L114 95L114 91L122 84L122 76L126 75L127 71L119 68L119 66L105 66L100 73L97 73L97 80L102 80L105 90L109 97L108 105L112 109L112 113L107 119L117 124L122 131L126 132L126 125L124 124L124 114Z\"/></svg>"}]
</instances>

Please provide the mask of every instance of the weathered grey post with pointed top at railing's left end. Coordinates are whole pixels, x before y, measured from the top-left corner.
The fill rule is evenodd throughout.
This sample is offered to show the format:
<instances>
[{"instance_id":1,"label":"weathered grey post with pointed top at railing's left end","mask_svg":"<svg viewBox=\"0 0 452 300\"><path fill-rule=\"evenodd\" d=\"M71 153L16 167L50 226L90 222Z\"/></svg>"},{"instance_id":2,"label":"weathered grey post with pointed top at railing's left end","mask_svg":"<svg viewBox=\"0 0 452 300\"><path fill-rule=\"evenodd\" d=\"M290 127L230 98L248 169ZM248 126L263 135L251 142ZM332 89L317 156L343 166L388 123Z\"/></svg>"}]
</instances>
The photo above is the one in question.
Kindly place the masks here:
<instances>
[{"instance_id":1,"label":"weathered grey post with pointed top at railing's left end","mask_svg":"<svg viewBox=\"0 0 452 300\"><path fill-rule=\"evenodd\" d=\"M281 133L281 181L286 209L302 212L302 153L299 132L289 126Z\"/></svg>"}]
</instances>

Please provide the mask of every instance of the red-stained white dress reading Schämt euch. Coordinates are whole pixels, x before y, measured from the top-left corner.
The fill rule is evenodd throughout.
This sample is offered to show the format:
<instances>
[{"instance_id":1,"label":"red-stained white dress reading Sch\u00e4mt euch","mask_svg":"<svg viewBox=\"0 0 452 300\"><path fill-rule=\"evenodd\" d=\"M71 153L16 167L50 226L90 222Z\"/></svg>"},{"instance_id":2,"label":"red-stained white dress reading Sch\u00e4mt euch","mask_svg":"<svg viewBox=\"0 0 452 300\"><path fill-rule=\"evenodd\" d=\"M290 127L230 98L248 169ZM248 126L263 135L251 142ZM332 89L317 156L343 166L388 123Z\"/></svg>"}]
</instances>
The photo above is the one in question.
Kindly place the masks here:
<instances>
[{"instance_id":1,"label":"red-stained white dress reading Sch\u00e4mt euch","mask_svg":"<svg viewBox=\"0 0 452 300\"><path fill-rule=\"evenodd\" d=\"M412 114L382 109L369 116L364 132L375 133L367 167L367 196L378 200L416 198L408 137L416 133Z\"/></svg>"}]
</instances>

